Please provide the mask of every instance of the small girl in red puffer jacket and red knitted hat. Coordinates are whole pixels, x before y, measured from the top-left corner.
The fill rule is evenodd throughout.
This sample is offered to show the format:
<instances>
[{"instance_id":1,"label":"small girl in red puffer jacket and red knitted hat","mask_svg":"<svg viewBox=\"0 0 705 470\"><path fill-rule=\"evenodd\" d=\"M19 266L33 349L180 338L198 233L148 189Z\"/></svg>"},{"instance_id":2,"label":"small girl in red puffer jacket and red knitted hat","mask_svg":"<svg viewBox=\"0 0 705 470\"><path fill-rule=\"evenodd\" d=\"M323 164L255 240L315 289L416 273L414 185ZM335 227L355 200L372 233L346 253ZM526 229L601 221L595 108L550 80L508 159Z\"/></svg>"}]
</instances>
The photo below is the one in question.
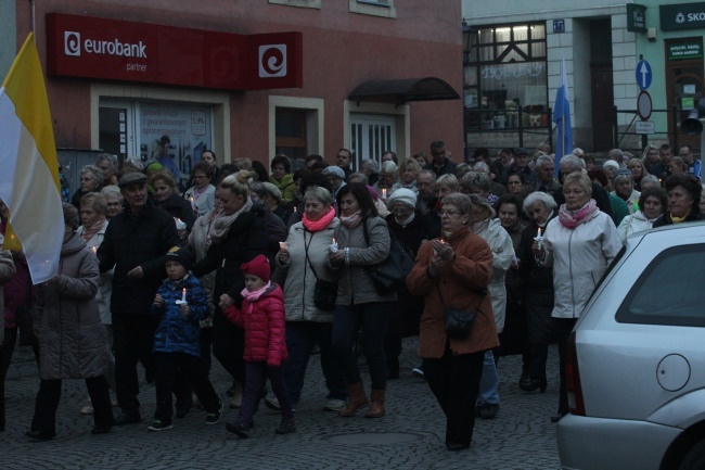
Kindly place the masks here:
<instances>
[{"instance_id":1,"label":"small girl in red puffer jacket and red knitted hat","mask_svg":"<svg viewBox=\"0 0 705 470\"><path fill-rule=\"evenodd\" d=\"M269 262L258 255L240 269L245 275L242 290L242 307L223 310L225 316L245 330L245 393L240 416L228 422L226 429L247 437L259 404L259 392L267 378L281 405L282 419L274 432L289 434L296 430L292 401L284 388L282 361L286 359L284 334L284 294L279 285L269 280Z\"/></svg>"}]
</instances>

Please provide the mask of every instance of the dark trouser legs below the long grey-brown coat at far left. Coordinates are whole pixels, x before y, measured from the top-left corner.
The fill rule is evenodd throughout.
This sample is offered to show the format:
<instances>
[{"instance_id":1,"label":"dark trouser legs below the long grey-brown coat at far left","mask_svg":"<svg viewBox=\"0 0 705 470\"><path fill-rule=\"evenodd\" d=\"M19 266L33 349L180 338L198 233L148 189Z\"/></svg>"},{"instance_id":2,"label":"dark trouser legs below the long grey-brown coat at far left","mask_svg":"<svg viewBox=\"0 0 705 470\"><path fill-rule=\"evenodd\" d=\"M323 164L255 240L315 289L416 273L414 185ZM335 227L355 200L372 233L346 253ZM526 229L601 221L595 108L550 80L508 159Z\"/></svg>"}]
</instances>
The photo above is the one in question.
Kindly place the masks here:
<instances>
[{"instance_id":1,"label":"dark trouser legs below the long grey-brown coat at far left","mask_svg":"<svg viewBox=\"0 0 705 470\"><path fill-rule=\"evenodd\" d=\"M105 376L86 379L86 388L93 404L93 422L97 427L113 425L113 406ZM35 402L35 416L31 418L31 430L44 435L56 434L56 408L61 398L61 379L42 380Z\"/></svg>"}]
</instances>

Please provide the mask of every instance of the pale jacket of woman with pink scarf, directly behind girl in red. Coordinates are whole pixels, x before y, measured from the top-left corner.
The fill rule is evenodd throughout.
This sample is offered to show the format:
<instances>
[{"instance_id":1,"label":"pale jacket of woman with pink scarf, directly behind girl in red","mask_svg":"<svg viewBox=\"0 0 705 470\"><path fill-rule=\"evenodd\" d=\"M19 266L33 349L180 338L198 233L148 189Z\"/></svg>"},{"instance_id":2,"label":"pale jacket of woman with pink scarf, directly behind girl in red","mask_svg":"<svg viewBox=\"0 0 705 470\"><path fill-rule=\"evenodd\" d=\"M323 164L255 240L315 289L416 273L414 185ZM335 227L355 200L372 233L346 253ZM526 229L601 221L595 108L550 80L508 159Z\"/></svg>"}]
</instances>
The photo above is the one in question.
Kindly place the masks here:
<instances>
[{"instance_id":1,"label":"pale jacket of woman with pink scarf, directly behind girl in red","mask_svg":"<svg viewBox=\"0 0 705 470\"><path fill-rule=\"evenodd\" d=\"M335 234L335 229L341 220L334 217L331 224L323 230L310 232L304 228L304 223L294 224L289 229L289 264L284 265L277 257L277 270L286 276L284 282L284 307L286 308L286 321L317 321L332 322L333 310L319 310L313 305L313 293L316 290L316 275L319 278L335 282L337 272L328 264L330 245ZM306 261L308 246L308 258L313 269Z\"/></svg>"}]
</instances>

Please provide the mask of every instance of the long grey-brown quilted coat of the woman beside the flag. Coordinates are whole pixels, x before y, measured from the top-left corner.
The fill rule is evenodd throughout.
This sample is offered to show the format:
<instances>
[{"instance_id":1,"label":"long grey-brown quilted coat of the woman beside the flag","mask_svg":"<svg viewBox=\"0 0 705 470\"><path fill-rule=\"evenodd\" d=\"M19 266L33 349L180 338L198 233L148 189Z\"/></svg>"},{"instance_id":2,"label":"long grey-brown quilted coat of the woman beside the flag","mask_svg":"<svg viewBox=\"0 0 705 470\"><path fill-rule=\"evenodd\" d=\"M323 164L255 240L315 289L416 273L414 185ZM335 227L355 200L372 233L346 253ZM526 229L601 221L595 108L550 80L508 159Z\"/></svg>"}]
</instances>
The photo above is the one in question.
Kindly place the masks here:
<instances>
[{"instance_id":1,"label":"long grey-brown quilted coat of the woman beside the flag","mask_svg":"<svg viewBox=\"0 0 705 470\"><path fill-rule=\"evenodd\" d=\"M95 301L95 254L75 234L61 249L59 280L38 285L34 307L39 339L39 377L85 379L107 371L105 327Z\"/></svg>"}]
</instances>

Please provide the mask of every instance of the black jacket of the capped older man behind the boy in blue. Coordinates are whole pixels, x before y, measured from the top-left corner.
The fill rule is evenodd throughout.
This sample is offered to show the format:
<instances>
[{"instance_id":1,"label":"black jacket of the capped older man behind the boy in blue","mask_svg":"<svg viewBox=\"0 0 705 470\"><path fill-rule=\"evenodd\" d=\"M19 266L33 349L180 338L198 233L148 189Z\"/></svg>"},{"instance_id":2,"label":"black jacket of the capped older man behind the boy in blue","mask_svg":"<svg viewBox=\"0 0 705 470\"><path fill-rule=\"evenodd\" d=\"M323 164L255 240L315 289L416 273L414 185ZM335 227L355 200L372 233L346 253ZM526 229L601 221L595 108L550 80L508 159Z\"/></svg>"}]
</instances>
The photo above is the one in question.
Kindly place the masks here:
<instances>
[{"instance_id":1,"label":"black jacket of the capped older man behind the boy in blue","mask_svg":"<svg viewBox=\"0 0 705 470\"><path fill-rule=\"evenodd\" d=\"M126 208L111 219L98 249L98 259L101 272L115 266L113 314L151 314L154 294L166 277L165 255L178 243L174 218L151 202L137 217ZM129 278L127 272L137 266L142 267L144 276Z\"/></svg>"}]
</instances>

